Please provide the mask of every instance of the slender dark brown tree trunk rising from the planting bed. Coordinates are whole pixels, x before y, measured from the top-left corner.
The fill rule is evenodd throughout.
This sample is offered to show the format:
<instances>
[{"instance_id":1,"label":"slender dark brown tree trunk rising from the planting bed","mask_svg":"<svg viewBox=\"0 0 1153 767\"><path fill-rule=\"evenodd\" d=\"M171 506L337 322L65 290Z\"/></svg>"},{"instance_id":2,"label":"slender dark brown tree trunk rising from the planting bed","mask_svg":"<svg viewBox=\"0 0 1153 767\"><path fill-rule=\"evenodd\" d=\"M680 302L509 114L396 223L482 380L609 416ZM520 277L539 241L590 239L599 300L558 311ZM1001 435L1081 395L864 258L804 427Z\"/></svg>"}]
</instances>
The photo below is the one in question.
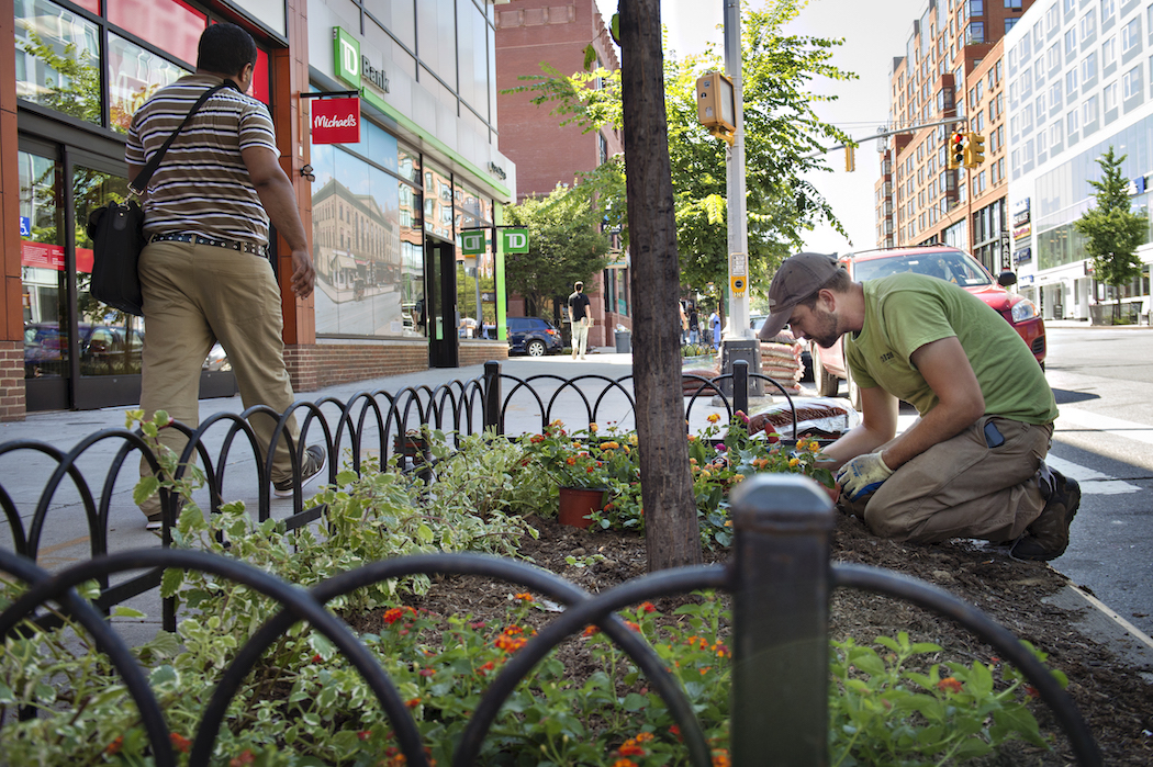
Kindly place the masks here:
<instances>
[{"instance_id":1,"label":"slender dark brown tree trunk rising from the planting bed","mask_svg":"<svg viewBox=\"0 0 1153 767\"><path fill-rule=\"evenodd\" d=\"M620 70L633 293L633 381L650 571L701 561L680 386L680 265L658 0L620 3Z\"/></svg>"}]
</instances>

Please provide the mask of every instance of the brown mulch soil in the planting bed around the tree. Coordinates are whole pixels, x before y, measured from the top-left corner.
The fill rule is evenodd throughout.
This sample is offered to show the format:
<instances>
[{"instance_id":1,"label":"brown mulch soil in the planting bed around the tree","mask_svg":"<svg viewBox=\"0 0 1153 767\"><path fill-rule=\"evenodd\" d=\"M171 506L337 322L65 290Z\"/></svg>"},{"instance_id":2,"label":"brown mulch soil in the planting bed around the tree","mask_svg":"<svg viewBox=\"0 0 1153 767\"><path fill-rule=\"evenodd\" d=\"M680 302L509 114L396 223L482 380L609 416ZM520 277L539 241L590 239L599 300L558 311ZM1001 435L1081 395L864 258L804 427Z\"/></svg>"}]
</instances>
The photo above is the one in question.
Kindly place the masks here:
<instances>
[{"instance_id":1,"label":"brown mulch soil in the planting bed around the tree","mask_svg":"<svg viewBox=\"0 0 1153 767\"><path fill-rule=\"evenodd\" d=\"M643 537L613 532L588 532L552 519L533 518L540 531L526 538L521 554L537 565L557 572L580 587L596 593L646 574ZM600 554L597 561L575 568L565 557ZM728 552L706 552L706 562L722 562ZM1153 683L1151 668L1133 668L1072 625L1075 613L1046 602L1067 585L1061 574L1041 563L1018 562L1003 548L979 541L956 540L935 545L910 545L876 538L856 518L841 516L834 538L832 560L882 567L940 586L975 605L1022 639L1048 654L1047 663L1064 671L1069 692L1088 722L1106 765L1153 765ZM429 593L409 601L440 615L470 614L477 621L498 624L514 588L476 577L445 577ZM686 598L691 599L691 598ZM669 614L683 599L654 600ZM895 637L907 631L913 641L941 645L941 656L928 663L951 660L989 662L992 650L951 622L911 605L852 590L839 590L831 605L830 635L853 637L869 644L877 636ZM367 616L366 616L367 617ZM552 614L541 612L537 628ZM572 640L557 648L568 673L581 677L593 670L582 643ZM1144 673L1144 678L1141 673ZM1073 765L1076 759L1055 719L1042 705L1033 712L1042 730L1053 735L1054 750L1046 752L1012 742L981 765Z\"/></svg>"}]
</instances>

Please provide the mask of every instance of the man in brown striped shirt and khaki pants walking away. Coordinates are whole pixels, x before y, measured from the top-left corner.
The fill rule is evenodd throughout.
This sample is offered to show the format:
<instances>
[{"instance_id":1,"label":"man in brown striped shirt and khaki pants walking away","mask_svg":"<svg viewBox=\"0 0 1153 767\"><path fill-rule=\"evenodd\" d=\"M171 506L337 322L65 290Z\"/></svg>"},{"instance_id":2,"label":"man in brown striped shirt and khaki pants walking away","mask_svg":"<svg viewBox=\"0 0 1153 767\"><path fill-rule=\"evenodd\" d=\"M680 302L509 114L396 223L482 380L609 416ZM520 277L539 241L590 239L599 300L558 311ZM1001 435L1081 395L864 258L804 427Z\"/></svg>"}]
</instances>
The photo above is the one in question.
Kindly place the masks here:
<instances>
[{"instance_id":1,"label":"man in brown striped shirt and khaki pants walking away","mask_svg":"<svg viewBox=\"0 0 1153 767\"><path fill-rule=\"evenodd\" d=\"M151 418L166 410L195 427L204 357L217 341L228 355L244 408L287 410L294 397L285 369L280 288L269 261L269 222L292 251L293 293L307 298L316 273L292 182L280 167L267 107L246 96L256 68L256 44L235 24L212 24L201 36L196 74L160 89L133 116L125 159L136 177L209 89L213 93L176 136L152 176L144 200L140 258L144 295L141 408ZM253 428L266 450L277 419L257 415ZM295 418L287 436L295 442ZM178 454L187 439L160 431ZM301 483L324 465L324 450L308 448ZM142 476L151 473L141 462ZM277 442L274 493L293 493L288 442ZM156 495L142 504L148 527L160 527Z\"/></svg>"}]
</instances>

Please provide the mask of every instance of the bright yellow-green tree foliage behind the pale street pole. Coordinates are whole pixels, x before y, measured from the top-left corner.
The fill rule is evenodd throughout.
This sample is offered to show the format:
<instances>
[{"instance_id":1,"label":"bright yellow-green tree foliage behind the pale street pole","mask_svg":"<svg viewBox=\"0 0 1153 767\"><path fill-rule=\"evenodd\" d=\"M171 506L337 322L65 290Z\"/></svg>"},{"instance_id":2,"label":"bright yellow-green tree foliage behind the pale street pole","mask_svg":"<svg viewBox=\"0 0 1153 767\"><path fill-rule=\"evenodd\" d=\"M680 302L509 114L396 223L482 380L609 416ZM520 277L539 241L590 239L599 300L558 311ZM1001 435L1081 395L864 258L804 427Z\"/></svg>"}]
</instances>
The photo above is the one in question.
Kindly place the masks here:
<instances>
[{"instance_id":1,"label":"bright yellow-green tree foliage behind the pale street pole","mask_svg":"<svg viewBox=\"0 0 1153 767\"><path fill-rule=\"evenodd\" d=\"M815 92L819 79L853 79L856 75L830 63L841 40L789 36L782 28L796 18L801 0L775 0L766 10L744 10L741 51L746 205L749 276L753 286L781 259L798 249L805 231L828 221L844 234L839 221L806 174L830 172L823 147L849 137L822 122L813 111L836 97ZM676 195L677 243L683 282L719 297L728 280L725 144L709 135L696 119L696 78L723 70L715 46L701 55L664 59L669 154ZM597 68L564 76L542 64L543 75L522 77L528 84L511 92L533 93L534 102L552 105L562 124L587 131L618 128L620 73ZM615 195L619 168L598 169L590 179L602 211L612 226L624 226L624 204ZM710 288L710 286L714 286Z\"/></svg>"}]
</instances>

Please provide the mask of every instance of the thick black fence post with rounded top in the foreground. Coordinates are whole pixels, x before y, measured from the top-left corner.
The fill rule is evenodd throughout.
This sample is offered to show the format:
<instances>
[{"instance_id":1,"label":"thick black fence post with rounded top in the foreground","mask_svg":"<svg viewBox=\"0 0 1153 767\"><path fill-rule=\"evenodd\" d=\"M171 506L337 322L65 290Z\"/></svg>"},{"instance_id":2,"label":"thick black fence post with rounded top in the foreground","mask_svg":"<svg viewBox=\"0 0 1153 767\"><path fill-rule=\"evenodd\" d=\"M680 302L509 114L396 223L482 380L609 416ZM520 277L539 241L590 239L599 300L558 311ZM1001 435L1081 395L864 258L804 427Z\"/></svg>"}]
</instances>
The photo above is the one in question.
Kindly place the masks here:
<instances>
[{"instance_id":1,"label":"thick black fence post with rounded top in the foreground","mask_svg":"<svg viewBox=\"0 0 1153 767\"><path fill-rule=\"evenodd\" d=\"M732 524L732 764L827 765L832 502L807 477L758 474Z\"/></svg>"}]
</instances>

